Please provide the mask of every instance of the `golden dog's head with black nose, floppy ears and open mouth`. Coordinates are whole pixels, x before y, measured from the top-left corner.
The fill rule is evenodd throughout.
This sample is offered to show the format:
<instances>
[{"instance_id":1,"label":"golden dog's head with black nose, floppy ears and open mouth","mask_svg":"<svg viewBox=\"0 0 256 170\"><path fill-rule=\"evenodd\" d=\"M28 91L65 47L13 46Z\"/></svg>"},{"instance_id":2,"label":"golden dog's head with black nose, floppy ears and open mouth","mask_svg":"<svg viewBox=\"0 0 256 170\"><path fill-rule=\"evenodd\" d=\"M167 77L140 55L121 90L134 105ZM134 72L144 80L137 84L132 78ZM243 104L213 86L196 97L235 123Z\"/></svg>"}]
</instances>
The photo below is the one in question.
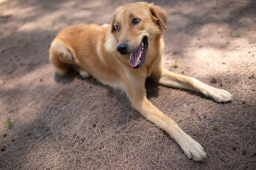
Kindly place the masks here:
<instances>
[{"instance_id":1,"label":"golden dog's head with black nose, floppy ears and open mouth","mask_svg":"<svg viewBox=\"0 0 256 170\"><path fill-rule=\"evenodd\" d=\"M134 69L142 67L149 44L166 30L166 13L144 2L121 6L114 11L112 33L118 41L117 51L130 55Z\"/></svg>"}]
</instances>

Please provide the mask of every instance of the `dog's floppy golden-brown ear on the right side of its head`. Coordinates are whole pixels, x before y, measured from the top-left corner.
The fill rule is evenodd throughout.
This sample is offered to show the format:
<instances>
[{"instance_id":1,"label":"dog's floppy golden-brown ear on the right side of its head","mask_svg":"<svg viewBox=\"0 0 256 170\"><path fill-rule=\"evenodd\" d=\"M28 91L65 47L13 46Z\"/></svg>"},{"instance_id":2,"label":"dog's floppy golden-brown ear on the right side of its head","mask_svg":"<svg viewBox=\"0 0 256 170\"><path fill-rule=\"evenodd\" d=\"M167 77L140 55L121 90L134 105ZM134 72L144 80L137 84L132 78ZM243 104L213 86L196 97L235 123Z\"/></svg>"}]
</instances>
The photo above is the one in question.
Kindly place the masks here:
<instances>
[{"instance_id":1,"label":"dog's floppy golden-brown ear on the right side of its head","mask_svg":"<svg viewBox=\"0 0 256 170\"><path fill-rule=\"evenodd\" d=\"M159 24L159 26L161 26L166 30L167 29L166 28L166 21L167 21L166 12L159 6L155 6L153 3L150 4L149 10L154 22L156 22L157 24Z\"/></svg>"}]
</instances>

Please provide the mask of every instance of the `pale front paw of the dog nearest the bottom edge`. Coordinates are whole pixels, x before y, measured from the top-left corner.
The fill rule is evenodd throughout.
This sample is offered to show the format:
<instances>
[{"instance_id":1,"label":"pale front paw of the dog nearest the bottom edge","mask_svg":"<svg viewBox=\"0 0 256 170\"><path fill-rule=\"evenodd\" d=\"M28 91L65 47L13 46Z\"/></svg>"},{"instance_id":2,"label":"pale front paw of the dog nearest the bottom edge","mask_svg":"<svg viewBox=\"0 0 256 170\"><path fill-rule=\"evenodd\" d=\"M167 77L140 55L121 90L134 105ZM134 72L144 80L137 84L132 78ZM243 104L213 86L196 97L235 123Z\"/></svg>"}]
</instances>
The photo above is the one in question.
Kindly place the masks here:
<instances>
[{"instance_id":1,"label":"pale front paw of the dog nearest the bottom edge","mask_svg":"<svg viewBox=\"0 0 256 170\"><path fill-rule=\"evenodd\" d=\"M186 136L186 139L183 139L181 143L181 149L186 154L188 159L193 159L195 161L201 161L206 158L206 152L203 147L193 140L189 135Z\"/></svg>"}]
</instances>

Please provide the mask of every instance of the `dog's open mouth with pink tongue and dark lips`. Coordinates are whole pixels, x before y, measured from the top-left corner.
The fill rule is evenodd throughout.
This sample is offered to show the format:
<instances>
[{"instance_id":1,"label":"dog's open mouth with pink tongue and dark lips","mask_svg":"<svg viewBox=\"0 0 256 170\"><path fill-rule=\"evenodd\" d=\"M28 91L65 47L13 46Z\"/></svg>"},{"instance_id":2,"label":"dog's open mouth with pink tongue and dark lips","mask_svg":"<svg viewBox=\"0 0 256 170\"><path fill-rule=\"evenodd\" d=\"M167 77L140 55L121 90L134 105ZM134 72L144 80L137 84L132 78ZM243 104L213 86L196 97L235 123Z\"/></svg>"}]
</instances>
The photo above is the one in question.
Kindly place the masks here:
<instances>
[{"instance_id":1,"label":"dog's open mouth with pink tongue and dark lips","mask_svg":"<svg viewBox=\"0 0 256 170\"><path fill-rule=\"evenodd\" d=\"M147 37L144 37L138 49L130 54L129 63L133 69L139 69L144 64L148 46L149 42Z\"/></svg>"}]
</instances>

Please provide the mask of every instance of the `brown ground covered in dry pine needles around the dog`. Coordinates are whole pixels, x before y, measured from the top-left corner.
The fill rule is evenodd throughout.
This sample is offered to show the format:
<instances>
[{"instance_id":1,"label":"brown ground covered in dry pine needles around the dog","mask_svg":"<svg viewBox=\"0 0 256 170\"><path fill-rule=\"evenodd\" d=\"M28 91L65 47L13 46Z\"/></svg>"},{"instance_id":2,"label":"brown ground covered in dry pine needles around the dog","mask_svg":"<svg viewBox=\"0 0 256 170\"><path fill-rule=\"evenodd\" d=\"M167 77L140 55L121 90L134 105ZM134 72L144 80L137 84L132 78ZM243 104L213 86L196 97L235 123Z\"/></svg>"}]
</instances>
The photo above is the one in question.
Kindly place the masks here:
<instances>
[{"instance_id":1,"label":"brown ground covered in dry pine needles around the dog","mask_svg":"<svg viewBox=\"0 0 256 170\"><path fill-rule=\"evenodd\" d=\"M233 94L215 103L146 82L149 100L206 149L203 162L119 91L55 74L59 30L111 23L129 2L0 0L0 169L256 169L255 0L153 1L169 13L164 67Z\"/></svg>"}]
</instances>

